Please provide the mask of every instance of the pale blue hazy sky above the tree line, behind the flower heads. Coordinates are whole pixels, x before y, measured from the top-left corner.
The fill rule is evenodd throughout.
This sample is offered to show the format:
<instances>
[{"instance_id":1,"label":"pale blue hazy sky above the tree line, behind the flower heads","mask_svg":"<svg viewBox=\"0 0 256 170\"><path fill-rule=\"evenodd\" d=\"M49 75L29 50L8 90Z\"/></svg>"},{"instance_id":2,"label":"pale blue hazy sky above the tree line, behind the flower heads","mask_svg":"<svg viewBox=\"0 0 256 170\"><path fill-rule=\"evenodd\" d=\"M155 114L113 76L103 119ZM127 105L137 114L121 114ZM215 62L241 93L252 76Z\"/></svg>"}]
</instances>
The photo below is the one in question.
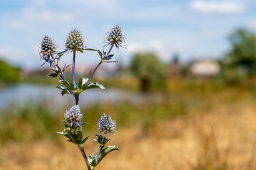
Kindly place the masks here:
<instances>
[{"instance_id":1,"label":"pale blue hazy sky above the tree line, behind the flower heads","mask_svg":"<svg viewBox=\"0 0 256 170\"><path fill-rule=\"evenodd\" d=\"M156 52L169 62L178 53L181 61L218 58L229 49L227 40L236 28L256 32L253 0L1 0L0 56L20 67L40 67L38 46L50 35L63 49L65 36L79 28L87 47L102 49L105 33L117 23L127 37L127 50L116 50L117 60L127 64L134 52ZM78 62L96 63L86 52ZM70 55L63 62L71 62Z\"/></svg>"}]
</instances>

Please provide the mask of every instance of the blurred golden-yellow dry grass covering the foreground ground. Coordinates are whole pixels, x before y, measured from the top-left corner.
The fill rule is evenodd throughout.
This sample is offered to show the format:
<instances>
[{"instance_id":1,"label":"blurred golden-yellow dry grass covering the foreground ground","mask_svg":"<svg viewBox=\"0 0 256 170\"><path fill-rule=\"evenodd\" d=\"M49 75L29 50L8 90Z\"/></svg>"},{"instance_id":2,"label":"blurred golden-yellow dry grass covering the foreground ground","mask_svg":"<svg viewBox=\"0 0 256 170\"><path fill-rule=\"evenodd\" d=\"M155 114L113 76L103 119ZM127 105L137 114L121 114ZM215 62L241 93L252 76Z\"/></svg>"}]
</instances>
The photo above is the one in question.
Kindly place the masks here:
<instances>
[{"instance_id":1,"label":"blurred golden-yellow dry grass covering the foreground ground","mask_svg":"<svg viewBox=\"0 0 256 170\"><path fill-rule=\"evenodd\" d=\"M96 169L256 169L252 98L229 105L214 102L209 111L193 109L186 116L156 122L148 135L142 129L137 125L112 135L110 144L121 151L110 153ZM85 143L87 154L96 149L96 142ZM86 169L78 147L70 142L9 142L0 150L1 170Z\"/></svg>"}]
</instances>

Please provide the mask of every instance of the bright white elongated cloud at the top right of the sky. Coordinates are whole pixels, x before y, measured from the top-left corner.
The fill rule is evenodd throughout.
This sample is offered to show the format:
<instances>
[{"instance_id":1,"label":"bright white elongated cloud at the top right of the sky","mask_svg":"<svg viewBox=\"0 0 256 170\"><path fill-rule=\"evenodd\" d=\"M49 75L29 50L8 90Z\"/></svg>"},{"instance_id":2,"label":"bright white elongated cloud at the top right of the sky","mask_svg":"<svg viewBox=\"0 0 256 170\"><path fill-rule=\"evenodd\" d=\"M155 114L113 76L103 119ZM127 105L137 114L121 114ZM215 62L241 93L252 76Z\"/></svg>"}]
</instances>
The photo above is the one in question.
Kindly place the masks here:
<instances>
[{"instance_id":1,"label":"bright white elongated cloud at the top right of the sky","mask_svg":"<svg viewBox=\"0 0 256 170\"><path fill-rule=\"evenodd\" d=\"M204 1L191 2L191 9L201 13L242 13L245 5L238 1Z\"/></svg>"}]
</instances>

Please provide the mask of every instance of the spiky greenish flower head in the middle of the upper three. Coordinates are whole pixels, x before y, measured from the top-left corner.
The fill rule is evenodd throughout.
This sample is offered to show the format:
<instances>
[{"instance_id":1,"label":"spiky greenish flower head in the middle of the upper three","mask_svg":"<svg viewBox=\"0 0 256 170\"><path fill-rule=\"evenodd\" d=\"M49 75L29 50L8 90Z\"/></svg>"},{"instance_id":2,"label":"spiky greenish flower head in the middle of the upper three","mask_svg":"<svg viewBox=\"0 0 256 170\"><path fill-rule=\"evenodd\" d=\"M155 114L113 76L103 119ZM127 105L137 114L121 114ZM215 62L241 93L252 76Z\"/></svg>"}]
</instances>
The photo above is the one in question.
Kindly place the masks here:
<instances>
[{"instance_id":1,"label":"spiky greenish flower head in the middle of the upper three","mask_svg":"<svg viewBox=\"0 0 256 170\"><path fill-rule=\"evenodd\" d=\"M82 50L85 47L82 33L77 28L70 30L68 33L65 47L67 50Z\"/></svg>"}]
</instances>

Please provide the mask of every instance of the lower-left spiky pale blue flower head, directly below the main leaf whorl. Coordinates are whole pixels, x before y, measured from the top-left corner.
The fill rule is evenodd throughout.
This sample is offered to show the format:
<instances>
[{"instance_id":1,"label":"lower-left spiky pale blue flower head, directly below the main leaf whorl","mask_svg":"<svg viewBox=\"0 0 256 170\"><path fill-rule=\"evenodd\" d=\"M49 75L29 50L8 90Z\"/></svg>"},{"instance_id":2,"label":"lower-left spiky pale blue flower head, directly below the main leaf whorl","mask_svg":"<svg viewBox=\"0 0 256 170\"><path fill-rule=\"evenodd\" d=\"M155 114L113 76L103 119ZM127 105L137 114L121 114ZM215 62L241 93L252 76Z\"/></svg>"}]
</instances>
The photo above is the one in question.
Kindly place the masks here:
<instances>
[{"instance_id":1,"label":"lower-left spiky pale blue flower head, directly below the main leaf whorl","mask_svg":"<svg viewBox=\"0 0 256 170\"><path fill-rule=\"evenodd\" d=\"M71 126L73 125L73 123L79 125L79 122L82 119L82 113L80 113L79 106L75 105L72 108L69 108L67 111L65 111L64 118L68 120L68 122L70 122Z\"/></svg>"}]
</instances>

